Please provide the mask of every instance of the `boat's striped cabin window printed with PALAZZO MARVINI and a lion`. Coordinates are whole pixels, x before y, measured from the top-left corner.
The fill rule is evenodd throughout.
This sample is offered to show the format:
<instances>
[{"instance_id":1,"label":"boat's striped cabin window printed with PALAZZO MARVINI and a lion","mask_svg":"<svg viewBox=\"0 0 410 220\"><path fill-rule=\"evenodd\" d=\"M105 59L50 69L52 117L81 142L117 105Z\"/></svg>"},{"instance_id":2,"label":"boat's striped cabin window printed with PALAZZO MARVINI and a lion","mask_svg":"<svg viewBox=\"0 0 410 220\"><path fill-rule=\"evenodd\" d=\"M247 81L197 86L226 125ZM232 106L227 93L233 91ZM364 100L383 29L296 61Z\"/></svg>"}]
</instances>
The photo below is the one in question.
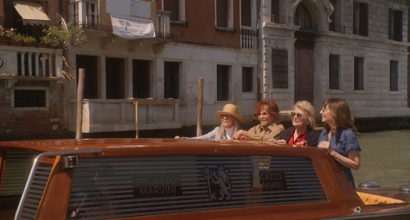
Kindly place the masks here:
<instances>
[{"instance_id":1,"label":"boat's striped cabin window printed with PALAZZO MARVINI and a lion","mask_svg":"<svg viewBox=\"0 0 410 220\"><path fill-rule=\"evenodd\" d=\"M328 200L306 158L79 159L66 217L107 219L321 202ZM71 216L73 210L78 210L75 217Z\"/></svg>"}]
</instances>

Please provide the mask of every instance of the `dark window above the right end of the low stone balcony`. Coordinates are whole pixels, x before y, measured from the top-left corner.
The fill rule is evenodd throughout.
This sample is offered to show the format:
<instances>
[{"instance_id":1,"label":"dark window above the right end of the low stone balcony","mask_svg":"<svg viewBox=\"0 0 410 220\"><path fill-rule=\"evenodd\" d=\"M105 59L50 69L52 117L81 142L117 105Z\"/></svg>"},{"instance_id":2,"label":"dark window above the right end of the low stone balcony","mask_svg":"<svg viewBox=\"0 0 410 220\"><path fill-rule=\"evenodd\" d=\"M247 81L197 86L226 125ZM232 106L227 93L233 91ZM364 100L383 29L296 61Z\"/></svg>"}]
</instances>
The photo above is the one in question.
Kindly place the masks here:
<instances>
[{"instance_id":1,"label":"dark window above the right end of the low stone balcony","mask_svg":"<svg viewBox=\"0 0 410 220\"><path fill-rule=\"evenodd\" d=\"M164 98L179 99L179 62L164 62Z\"/></svg>"}]
</instances>

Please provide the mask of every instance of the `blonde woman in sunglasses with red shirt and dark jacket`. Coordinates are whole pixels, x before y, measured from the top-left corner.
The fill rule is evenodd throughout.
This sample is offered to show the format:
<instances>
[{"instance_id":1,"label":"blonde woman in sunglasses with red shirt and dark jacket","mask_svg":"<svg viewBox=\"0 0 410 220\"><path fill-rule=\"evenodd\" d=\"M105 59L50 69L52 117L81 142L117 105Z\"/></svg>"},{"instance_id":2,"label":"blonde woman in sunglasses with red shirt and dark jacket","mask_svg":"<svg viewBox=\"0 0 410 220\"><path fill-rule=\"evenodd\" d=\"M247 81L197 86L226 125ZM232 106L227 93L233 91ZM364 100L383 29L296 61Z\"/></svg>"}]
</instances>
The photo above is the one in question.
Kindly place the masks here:
<instances>
[{"instance_id":1,"label":"blonde woman in sunglasses with red shirt and dark jacket","mask_svg":"<svg viewBox=\"0 0 410 220\"><path fill-rule=\"evenodd\" d=\"M314 146L319 140L319 133L315 130L315 108L308 101L298 101L291 112L293 127L286 128L282 140L276 143L288 143L291 146Z\"/></svg>"}]
</instances>

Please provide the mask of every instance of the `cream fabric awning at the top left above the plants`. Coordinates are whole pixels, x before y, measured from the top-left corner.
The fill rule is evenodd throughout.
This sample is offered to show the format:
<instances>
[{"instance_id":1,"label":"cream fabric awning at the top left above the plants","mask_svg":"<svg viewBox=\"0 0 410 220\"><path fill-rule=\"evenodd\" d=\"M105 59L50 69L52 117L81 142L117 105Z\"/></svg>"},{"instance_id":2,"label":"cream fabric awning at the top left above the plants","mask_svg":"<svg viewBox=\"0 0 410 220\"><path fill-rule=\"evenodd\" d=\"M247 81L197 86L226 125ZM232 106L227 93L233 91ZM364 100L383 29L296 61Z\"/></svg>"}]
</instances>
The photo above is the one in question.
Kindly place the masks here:
<instances>
[{"instance_id":1,"label":"cream fabric awning at the top left above the plants","mask_svg":"<svg viewBox=\"0 0 410 220\"><path fill-rule=\"evenodd\" d=\"M48 25L50 18L44 13L43 8L35 2L13 0L13 6L23 18L23 25L37 24Z\"/></svg>"}]
</instances>

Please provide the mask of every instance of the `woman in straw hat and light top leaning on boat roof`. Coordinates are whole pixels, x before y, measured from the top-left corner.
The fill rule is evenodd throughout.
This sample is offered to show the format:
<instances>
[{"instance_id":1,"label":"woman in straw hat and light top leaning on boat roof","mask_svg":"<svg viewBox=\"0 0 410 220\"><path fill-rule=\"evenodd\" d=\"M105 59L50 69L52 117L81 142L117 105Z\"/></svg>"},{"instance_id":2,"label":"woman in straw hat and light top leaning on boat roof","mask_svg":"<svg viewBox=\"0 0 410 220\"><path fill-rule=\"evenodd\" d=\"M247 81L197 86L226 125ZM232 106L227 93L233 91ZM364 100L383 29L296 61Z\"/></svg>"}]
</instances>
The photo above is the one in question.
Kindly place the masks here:
<instances>
[{"instance_id":1,"label":"woman in straw hat and light top leaning on boat roof","mask_svg":"<svg viewBox=\"0 0 410 220\"><path fill-rule=\"evenodd\" d=\"M242 117L238 114L238 107L234 104L226 104L222 111L215 113L215 116L221 119L221 124L210 133L194 139L232 140L232 136L239 130L239 123L243 122Z\"/></svg>"}]
</instances>

